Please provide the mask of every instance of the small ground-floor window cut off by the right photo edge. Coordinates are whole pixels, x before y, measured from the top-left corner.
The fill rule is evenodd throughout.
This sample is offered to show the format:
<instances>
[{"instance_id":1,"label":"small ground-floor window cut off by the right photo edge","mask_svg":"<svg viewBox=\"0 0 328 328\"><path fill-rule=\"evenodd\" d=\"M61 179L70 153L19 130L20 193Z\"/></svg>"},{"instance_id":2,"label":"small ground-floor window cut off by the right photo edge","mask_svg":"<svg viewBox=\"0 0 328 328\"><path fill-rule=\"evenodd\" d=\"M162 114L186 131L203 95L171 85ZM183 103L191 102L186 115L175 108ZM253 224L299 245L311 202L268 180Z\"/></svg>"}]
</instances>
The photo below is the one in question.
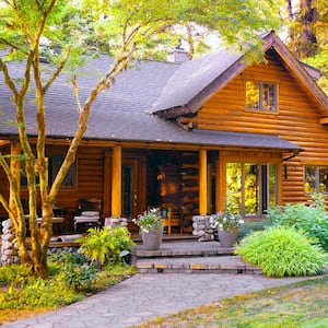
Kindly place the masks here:
<instances>
[{"instance_id":1,"label":"small ground-floor window cut off by the right photo edge","mask_svg":"<svg viewBox=\"0 0 328 328\"><path fill-rule=\"evenodd\" d=\"M305 192L328 192L328 166L305 166Z\"/></svg>"}]
</instances>

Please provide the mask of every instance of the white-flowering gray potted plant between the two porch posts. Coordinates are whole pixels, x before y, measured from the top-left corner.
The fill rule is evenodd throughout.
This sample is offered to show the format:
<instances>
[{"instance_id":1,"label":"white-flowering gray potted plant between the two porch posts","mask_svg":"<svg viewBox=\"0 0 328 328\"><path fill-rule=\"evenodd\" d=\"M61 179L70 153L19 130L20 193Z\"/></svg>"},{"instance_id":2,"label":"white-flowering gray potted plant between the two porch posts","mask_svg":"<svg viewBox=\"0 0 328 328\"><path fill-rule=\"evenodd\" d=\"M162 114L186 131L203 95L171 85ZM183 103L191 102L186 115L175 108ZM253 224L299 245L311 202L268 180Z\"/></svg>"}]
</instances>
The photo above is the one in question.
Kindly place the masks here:
<instances>
[{"instance_id":1,"label":"white-flowering gray potted plant between the two porch posts","mask_svg":"<svg viewBox=\"0 0 328 328\"><path fill-rule=\"evenodd\" d=\"M150 209L133 219L133 222L140 227L142 243L145 249L156 250L160 248L163 237L163 222L157 209Z\"/></svg>"}]
</instances>

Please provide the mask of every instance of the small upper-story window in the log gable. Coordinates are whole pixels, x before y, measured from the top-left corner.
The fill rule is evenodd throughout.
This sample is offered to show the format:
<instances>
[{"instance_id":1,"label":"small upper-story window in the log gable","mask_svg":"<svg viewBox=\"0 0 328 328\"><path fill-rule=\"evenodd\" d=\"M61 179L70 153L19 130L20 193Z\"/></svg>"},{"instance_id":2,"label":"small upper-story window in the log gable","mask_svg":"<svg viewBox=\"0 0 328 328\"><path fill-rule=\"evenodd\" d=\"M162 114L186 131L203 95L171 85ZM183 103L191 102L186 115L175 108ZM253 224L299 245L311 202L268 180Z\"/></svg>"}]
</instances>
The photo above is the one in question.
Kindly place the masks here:
<instances>
[{"instance_id":1,"label":"small upper-story window in the log gable","mask_svg":"<svg viewBox=\"0 0 328 328\"><path fill-rule=\"evenodd\" d=\"M246 81L246 109L276 113L278 110L277 84Z\"/></svg>"}]
</instances>

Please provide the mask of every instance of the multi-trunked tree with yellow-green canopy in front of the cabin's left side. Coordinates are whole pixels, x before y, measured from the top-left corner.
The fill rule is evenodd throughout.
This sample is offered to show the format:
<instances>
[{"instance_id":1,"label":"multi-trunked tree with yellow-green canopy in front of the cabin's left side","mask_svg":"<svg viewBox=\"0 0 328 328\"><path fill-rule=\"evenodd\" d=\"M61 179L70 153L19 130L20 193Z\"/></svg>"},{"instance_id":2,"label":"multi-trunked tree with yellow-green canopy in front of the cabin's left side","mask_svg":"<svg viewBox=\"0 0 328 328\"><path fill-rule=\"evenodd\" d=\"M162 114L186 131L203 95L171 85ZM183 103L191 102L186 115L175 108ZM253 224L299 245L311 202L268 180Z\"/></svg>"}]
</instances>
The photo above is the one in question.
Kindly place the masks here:
<instances>
[{"instance_id":1,"label":"multi-trunked tree with yellow-green canopy in front of the cabin's left side","mask_svg":"<svg viewBox=\"0 0 328 328\"><path fill-rule=\"evenodd\" d=\"M0 202L12 219L21 260L34 274L47 277L47 247L51 236L52 206L77 150L87 129L91 107L97 95L115 83L116 77L133 59L159 57L163 49L176 44L184 26L192 22L203 31L213 30L230 44L249 46L259 32L274 27L277 1L211 0L3 0L0 2L0 71L11 91L16 110L16 129L21 153L0 154L10 187L10 197L0 195ZM190 34L191 35L191 34ZM189 36L190 36L189 35ZM161 47L157 45L161 44ZM90 51L92 50L92 51ZM79 98L78 67L96 51L107 52L114 63L102 79L90 87L84 102ZM40 58L54 67L45 72ZM11 72L10 62L22 61L21 79ZM46 159L45 96L63 72L70 74L77 96L79 127L70 142L65 161L52 185L48 181ZM34 90L37 126L36 150L33 150L25 127L25 102ZM75 109L75 108L73 108ZM5 108L4 108L5 110ZM11 165L7 157L10 157ZM25 220L16 176L24 161L28 190L32 250L27 251ZM38 181L38 183L37 183ZM42 224L36 222L36 203L40 199Z\"/></svg>"}]
</instances>

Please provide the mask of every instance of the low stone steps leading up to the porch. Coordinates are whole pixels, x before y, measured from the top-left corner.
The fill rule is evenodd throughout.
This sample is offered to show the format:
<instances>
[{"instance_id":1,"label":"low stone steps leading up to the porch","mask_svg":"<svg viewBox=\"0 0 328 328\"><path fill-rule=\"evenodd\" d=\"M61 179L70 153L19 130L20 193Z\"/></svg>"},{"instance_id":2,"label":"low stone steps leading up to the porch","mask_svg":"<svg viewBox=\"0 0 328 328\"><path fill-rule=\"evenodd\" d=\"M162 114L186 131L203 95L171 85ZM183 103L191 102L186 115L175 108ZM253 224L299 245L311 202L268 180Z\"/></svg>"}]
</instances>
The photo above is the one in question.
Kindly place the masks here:
<instances>
[{"instance_id":1,"label":"low stone steps leading up to the porch","mask_svg":"<svg viewBox=\"0 0 328 328\"><path fill-rule=\"evenodd\" d=\"M241 260L233 248L219 242L162 243L159 250L137 245L132 265L139 273L236 273L262 274L261 270Z\"/></svg>"}]
</instances>

